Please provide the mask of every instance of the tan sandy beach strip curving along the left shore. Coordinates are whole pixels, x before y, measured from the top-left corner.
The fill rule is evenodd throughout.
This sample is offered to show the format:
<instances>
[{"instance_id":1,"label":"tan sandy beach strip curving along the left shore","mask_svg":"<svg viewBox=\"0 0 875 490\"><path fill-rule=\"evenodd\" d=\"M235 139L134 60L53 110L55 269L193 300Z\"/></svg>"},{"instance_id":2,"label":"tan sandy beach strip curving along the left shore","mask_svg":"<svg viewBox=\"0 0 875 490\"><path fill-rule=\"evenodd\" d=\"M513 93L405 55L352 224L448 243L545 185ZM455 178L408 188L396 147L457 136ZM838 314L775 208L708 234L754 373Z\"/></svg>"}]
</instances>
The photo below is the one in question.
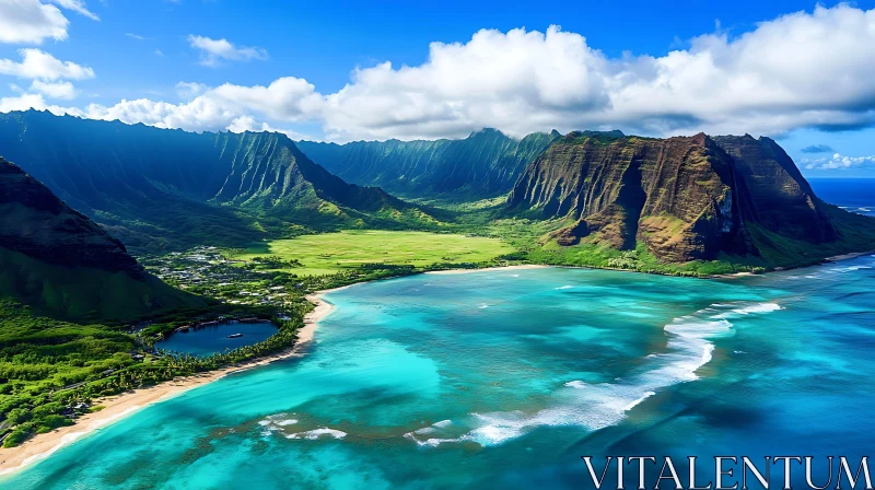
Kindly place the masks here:
<instances>
[{"instance_id":1,"label":"tan sandy beach strip curving along the left shore","mask_svg":"<svg viewBox=\"0 0 875 490\"><path fill-rule=\"evenodd\" d=\"M180 395L189 389L206 385L207 383L211 383L229 374L238 373L282 359L303 355L310 342L313 341L319 319L324 318L334 310L334 306L322 298L323 294L330 291L335 290L319 291L306 296L307 301L316 306L304 317L304 327L298 332L298 342L293 348L273 355L242 362L208 373L177 377L156 386L140 388L133 392L94 400L92 406L100 405L104 408L100 411L79 417L75 419L73 425L62 427L45 434L37 434L16 447L0 448L0 475L18 471L27 465L49 456L73 441L152 404Z\"/></svg>"}]
</instances>

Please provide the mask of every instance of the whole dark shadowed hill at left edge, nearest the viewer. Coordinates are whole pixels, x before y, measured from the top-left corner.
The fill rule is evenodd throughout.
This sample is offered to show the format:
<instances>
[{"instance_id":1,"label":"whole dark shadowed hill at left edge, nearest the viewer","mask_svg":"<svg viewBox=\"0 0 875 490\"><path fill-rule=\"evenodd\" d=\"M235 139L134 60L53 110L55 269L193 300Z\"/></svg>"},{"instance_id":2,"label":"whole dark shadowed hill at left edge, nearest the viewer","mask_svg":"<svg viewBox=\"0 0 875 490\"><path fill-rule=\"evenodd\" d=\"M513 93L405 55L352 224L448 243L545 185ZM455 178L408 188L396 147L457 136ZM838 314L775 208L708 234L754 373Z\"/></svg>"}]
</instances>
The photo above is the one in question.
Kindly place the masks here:
<instances>
[{"instance_id":1,"label":"whole dark shadowed hill at left edge, nearest the viewer","mask_svg":"<svg viewBox=\"0 0 875 490\"><path fill-rule=\"evenodd\" d=\"M0 296L80 322L206 305L145 272L118 240L2 158Z\"/></svg>"}]
</instances>

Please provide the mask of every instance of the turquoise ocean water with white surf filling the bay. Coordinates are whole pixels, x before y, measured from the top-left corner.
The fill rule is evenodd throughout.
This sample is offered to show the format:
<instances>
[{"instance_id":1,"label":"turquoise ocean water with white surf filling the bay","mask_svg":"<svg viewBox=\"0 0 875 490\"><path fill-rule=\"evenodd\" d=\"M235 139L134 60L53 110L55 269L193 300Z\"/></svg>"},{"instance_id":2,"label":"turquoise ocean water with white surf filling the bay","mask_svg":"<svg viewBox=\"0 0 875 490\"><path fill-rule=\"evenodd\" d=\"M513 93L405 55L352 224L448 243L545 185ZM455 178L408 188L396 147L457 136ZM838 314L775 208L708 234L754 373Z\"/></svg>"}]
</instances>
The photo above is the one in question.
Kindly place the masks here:
<instances>
[{"instance_id":1,"label":"turquoise ocean water with white surf filling the bay","mask_svg":"<svg viewBox=\"0 0 875 490\"><path fill-rule=\"evenodd\" d=\"M327 296L306 357L142 409L0 487L592 488L582 455L870 454L874 288L875 257L359 284Z\"/></svg>"}]
</instances>

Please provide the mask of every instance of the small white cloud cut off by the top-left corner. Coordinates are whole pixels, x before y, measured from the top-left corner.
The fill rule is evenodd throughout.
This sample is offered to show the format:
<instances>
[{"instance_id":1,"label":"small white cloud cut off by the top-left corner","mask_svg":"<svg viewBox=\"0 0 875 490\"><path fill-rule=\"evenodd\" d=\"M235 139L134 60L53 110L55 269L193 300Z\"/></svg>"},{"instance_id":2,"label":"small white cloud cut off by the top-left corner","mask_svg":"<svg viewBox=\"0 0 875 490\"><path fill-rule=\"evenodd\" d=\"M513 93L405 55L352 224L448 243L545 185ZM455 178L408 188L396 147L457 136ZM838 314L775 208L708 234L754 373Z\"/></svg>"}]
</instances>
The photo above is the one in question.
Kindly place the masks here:
<instances>
[{"instance_id":1,"label":"small white cloud cut off by the top-left corner","mask_svg":"<svg viewBox=\"0 0 875 490\"><path fill-rule=\"evenodd\" d=\"M0 43L42 44L46 38L63 40L69 24L57 7L38 0L0 2Z\"/></svg>"}]
</instances>

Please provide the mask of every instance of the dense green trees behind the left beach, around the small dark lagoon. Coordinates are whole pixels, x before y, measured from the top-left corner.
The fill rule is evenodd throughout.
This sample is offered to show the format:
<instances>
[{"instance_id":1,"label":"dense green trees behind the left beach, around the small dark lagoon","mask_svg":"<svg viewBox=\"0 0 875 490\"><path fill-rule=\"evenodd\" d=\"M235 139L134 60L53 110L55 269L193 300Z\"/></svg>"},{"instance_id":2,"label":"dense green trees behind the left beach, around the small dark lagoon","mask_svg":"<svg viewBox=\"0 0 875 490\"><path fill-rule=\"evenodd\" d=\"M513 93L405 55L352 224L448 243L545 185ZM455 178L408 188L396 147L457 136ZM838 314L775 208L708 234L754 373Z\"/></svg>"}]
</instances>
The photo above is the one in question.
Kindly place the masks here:
<instances>
[{"instance_id":1,"label":"dense green trees behind the left beach, around the small dark lagoon","mask_svg":"<svg viewBox=\"0 0 875 490\"><path fill-rule=\"evenodd\" d=\"M3 445L14 446L32 434L72 423L95 398L287 349L294 345L307 307L301 303L287 311L282 318L288 319L272 315L280 329L264 342L200 359L151 348L154 332L192 316L168 318L133 334L129 326L37 316L25 305L0 300L0 415L4 417L0 427L10 430ZM246 313L271 314L270 308Z\"/></svg>"}]
</instances>

